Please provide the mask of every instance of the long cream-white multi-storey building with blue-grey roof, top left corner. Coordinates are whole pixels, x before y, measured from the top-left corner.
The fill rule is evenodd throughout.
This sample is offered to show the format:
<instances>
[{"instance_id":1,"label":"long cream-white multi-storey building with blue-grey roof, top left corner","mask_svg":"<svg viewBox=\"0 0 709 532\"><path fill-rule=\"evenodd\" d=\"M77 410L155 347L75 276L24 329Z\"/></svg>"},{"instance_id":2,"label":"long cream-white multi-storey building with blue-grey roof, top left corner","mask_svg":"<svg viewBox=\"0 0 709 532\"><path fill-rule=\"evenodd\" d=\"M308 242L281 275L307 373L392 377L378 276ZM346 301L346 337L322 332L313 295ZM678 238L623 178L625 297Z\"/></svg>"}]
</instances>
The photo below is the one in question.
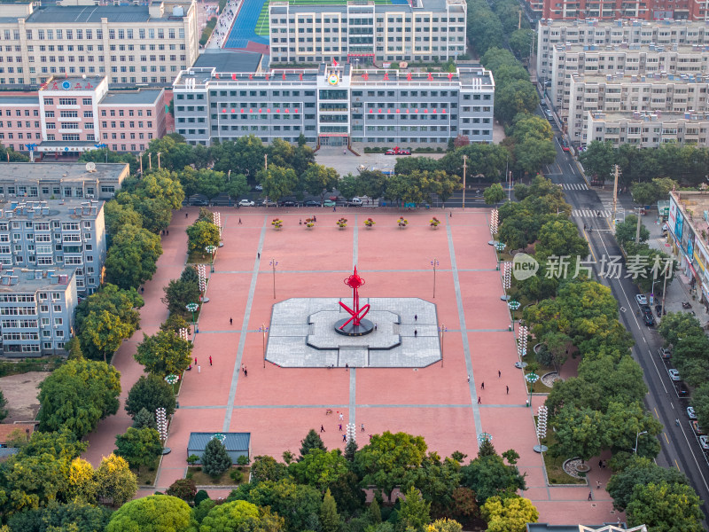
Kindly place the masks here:
<instances>
[{"instance_id":1,"label":"long cream-white multi-storey building with blue-grey roof, top left corner","mask_svg":"<svg viewBox=\"0 0 709 532\"><path fill-rule=\"evenodd\" d=\"M168 86L199 54L197 9L194 0L0 4L0 85L86 74L112 85Z\"/></svg>"}]
</instances>

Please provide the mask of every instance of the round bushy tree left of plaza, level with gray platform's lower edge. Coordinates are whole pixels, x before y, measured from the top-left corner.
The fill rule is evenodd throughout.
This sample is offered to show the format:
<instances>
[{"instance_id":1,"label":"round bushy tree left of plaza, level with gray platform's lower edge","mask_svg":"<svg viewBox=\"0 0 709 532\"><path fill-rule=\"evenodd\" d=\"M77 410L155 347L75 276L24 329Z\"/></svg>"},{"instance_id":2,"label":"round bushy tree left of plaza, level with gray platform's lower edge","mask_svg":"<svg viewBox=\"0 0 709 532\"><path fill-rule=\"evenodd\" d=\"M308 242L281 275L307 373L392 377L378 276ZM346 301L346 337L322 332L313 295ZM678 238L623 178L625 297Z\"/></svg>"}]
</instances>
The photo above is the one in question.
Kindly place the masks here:
<instances>
[{"instance_id":1,"label":"round bushy tree left of plaza, level with gray platform's lower edge","mask_svg":"<svg viewBox=\"0 0 709 532\"><path fill-rule=\"evenodd\" d=\"M162 378L181 375L191 364L192 344L173 332L160 331L152 336L143 333L143 341L133 356L145 371Z\"/></svg>"}]
</instances>

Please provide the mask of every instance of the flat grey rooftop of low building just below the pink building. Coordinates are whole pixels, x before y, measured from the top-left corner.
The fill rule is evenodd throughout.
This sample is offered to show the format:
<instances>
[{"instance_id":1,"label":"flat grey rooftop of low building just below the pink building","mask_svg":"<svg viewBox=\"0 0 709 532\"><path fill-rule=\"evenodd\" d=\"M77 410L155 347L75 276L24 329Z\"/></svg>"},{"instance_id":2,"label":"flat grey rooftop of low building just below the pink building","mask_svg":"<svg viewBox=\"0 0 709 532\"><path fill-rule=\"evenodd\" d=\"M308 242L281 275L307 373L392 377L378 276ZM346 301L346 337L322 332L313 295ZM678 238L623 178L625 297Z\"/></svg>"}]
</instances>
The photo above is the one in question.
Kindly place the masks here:
<instances>
[{"instance_id":1,"label":"flat grey rooftop of low building just below the pink building","mask_svg":"<svg viewBox=\"0 0 709 532\"><path fill-rule=\"evenodd\" d=\"M66 144L66 143L65 143ZM58 183L85 180L90 182L119 182L129 175L129 165L124 162L98 162L90 172L84 162L11 162L0 164L0 184L23 181Z\"/></svg>"}]
</instances>

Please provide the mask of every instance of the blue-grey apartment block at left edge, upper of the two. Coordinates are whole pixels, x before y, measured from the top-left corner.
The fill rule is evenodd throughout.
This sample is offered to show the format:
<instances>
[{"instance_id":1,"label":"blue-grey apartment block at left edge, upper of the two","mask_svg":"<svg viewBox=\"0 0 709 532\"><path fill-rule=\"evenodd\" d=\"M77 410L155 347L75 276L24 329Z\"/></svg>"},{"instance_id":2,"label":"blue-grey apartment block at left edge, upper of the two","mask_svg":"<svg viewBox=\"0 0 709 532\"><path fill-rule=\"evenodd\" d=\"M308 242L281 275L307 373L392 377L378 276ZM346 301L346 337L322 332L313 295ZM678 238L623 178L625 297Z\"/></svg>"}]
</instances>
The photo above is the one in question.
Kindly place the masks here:
<instances>
[{"instance_id":1,"label":"blue-grey apartment block at left edge, upper of the two","mask_svg":"<svg viewBox=\"0 0 709 532\"><path fill-rule=\"evenodd\" d=\"M96 292L106 254L103 201L12 200L0 214L3 270L74 269L79 295Z\"/></svg>"}]
</instances>

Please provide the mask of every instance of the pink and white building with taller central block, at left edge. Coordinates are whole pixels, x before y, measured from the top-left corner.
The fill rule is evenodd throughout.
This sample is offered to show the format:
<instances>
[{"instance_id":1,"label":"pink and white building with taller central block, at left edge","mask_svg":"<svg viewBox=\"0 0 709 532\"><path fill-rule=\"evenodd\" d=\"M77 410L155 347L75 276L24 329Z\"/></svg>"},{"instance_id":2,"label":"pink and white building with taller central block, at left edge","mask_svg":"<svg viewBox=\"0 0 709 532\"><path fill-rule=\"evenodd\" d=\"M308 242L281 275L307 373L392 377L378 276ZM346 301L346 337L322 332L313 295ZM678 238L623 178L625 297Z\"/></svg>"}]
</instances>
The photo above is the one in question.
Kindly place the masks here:
<instances>
[{"instance_id":1,"label":"pink and white building with taller central block, at left edge","mask_svg":"<svg viewBox=\"0 0 709 532\"><path fill-rule=\"evenodd\" d=\"M1 9L1 8L0 8ZM0 96L0 142L75 155L105 144L139 152L166 132L164 89L108 90L106 77L52 77L37 92Z\"/></svg>"}]
</instances>

